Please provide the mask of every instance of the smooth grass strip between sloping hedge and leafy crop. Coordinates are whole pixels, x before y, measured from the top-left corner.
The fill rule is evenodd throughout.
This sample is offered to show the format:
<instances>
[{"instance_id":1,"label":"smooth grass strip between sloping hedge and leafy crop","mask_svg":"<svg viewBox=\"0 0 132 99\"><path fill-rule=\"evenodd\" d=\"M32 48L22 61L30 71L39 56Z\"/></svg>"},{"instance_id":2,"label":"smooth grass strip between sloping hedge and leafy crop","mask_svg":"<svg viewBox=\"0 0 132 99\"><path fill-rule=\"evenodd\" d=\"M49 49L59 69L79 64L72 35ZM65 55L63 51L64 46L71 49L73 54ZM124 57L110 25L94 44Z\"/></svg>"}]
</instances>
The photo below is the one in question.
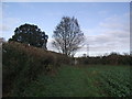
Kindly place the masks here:
<instances>
[{"instance_id":1,"label":"smooth grass strip between sloping hedge and leafy crop","mask_svg":"<svg viewBox=\"0 0 132 99\"><path fill-rule=\"evenodd\" d=\"M120 67L121 70L122 68L123 67ZM99 77L101 77L103 72L112 69L116 70L119 69L119 67L62 66L54 76L41 75L36 81L25 89L23 96L105 97L108 96L108 94L103 90L103 85L99 81Z\"/></svg>"}]
</instances>

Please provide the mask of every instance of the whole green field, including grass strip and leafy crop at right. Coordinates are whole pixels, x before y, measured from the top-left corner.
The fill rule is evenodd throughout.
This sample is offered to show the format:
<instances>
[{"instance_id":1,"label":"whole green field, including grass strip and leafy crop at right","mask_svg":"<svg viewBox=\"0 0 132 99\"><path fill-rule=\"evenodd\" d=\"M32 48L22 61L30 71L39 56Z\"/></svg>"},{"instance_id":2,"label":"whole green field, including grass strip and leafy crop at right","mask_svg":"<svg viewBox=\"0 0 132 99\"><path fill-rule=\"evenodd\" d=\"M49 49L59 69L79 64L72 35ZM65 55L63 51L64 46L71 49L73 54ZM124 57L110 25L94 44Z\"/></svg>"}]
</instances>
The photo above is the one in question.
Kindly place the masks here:
<instances>
[{"instance_id":1,"label":"whole green field, including grass strip and leafy crop at right","mask_svg":"<svg viewBox=\"0 0 132 99\"><path fill-rule=\"evenodd\" d=\"M26 97L127 97L130 96L129 66L62 66L41 75L26 87Z\"/></svg>"}]
</instances>

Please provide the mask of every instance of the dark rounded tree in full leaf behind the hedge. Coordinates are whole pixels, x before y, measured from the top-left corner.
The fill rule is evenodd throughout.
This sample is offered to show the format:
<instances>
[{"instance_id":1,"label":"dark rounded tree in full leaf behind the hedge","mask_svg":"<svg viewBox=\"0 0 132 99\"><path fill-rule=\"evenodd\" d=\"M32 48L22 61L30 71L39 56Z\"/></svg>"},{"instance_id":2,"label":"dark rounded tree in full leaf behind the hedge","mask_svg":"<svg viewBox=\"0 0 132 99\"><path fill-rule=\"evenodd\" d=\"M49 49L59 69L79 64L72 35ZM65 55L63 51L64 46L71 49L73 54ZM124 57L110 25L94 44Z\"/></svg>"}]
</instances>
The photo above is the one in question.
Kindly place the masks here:
<instances>
[{"instance_id":1,"label":"dark rounded tree in full leaf behind the hedge","mask_svg":"<svg viewBox=\"0 0 132 99\"><path fill-rule=\"evenodd\" d=\"M25 23L14 30L14 35L9 40L9 42L15 41L46 50L47 38L48 36L45 32L42 32L37 25Z\"/></svg>"}]
</instances>

